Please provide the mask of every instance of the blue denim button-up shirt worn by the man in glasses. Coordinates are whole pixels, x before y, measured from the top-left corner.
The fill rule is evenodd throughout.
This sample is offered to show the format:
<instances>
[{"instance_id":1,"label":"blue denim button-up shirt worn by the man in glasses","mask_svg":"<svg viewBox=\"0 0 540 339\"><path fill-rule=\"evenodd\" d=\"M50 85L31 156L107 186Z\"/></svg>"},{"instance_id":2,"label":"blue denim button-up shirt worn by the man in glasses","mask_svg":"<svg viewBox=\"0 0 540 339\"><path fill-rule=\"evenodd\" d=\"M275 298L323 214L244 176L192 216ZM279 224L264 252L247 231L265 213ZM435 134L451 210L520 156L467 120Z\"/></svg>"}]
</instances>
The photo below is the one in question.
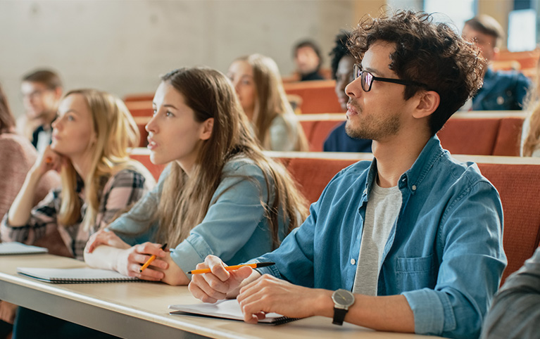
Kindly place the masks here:
<instances>
[{"instance_id":1,"label":"blue denim button-up shirt worn by the man in glasses","mask_svg":"<svg viewBox=\"0 0 540 339\"><path fill-rule=\"evenodd\" d=\"M260 272L310 288L352 290L376 177L376 160L339 172L306 222L253 260L276 263ZM416 333L477 338L506 267L496 189L477 165L451 158L437 136L398 187L403 203L379 263L378 295L404 295Z\"/></svg>"}]
</instances>

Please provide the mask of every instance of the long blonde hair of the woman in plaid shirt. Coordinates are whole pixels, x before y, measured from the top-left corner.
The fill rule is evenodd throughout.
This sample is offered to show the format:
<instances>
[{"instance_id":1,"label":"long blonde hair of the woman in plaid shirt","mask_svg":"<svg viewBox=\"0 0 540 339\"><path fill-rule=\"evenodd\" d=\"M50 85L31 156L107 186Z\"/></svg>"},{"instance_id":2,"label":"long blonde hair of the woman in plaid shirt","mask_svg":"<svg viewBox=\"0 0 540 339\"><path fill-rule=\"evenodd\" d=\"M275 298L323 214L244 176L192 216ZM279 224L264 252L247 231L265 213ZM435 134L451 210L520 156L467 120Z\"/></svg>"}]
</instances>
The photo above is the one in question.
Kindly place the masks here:
<instances>
[{"instance_id":1,"label":"long blonde hair of the woman in plaid shirt","mask_svg":"<svg viewBox=\"0 0 540 339\"><path fill-rule=\"evenodd\" d=\"M84 229L96 222L99 195L106 181L116 172L127 167L139 169L139 162L130 160L128 148L139 144L139 129L123 101L112 94L95 89L69 91L64 98L80 94L92 115L92 129L96 135L88 177L84 181L84 201L87 204L82 219ZM77 195L77 172L73 164L62 167L62 203L58 220L64 225L76 224L81 218L81 203Z\"/></svg>"}]
</instances>

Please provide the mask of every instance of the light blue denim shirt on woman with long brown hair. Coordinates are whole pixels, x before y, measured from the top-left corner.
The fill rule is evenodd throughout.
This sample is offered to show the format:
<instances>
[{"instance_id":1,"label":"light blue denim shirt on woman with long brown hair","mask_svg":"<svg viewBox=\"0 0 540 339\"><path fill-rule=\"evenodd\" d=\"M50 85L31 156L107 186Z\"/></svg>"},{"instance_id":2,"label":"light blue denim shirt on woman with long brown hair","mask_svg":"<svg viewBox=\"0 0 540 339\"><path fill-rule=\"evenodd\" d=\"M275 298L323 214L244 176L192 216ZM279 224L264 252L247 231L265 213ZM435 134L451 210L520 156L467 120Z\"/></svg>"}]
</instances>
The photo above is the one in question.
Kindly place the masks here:
<instances>
[{"instance_id":1,"label":"light blue denim shirt on woman with long brown hair","mask_svg":"<svg viewBox=\"0 0 540 339\"><path fill-rule=\"evenodd\" d=\"M130 245L153 241L158 229L158 221L153 219L153 215L161 197L163 181L169 173L170 168L167 167L156 188L139 200L130 212L116 219L108 229L116 231ZM265 203L268 201L262 169L248 158L234 158L223 167L222 178L201 224L195 225L187 239L171 251L172 260L182 271L195 269L196 264L203 262L207 255L216 255L231 265L273 249L265 207L261 204L261 200ZM270 187L273 188L271 182ZM274 192L271 191L270 201L273 199ZM285 237L286 227L281 215L277 219L280 221L281 241Z\"/></svg>"}]
</instances>

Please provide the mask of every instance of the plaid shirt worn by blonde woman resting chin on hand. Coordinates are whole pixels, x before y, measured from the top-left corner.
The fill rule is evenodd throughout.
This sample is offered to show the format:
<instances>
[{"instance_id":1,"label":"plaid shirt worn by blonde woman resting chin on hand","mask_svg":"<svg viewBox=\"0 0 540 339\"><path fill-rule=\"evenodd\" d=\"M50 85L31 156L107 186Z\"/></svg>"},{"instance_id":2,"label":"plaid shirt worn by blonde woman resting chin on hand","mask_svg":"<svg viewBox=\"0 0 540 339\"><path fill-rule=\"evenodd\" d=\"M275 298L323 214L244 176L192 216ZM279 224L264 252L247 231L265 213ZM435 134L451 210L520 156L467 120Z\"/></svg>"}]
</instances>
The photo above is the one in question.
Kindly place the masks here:
<instances>
[{"instance_id":1,"label":"plaid shirt worn by blonde woman resting chin on hand","mask_svg":"<svg viewBox=\"0 0 540 339\"><path fill-rule=\"evenodd\" d=\"M81 217L73 225L62 225L58 223L58 213L62 204L61 188L51 190L49 194L32 209L30 219L25 226L13 227L8 223L8 214L2 220L0 226L3 241L18 241L20 243L34 243L42 236L58 229L65 245L72 255L78 260L84 258L84 246L91 234L106 225L120 215L121 212L136 203L139 198L149 191L153 186L153 180L147 180L146 176L134 169L123 169L106 180L106 184L101 191L99 208L96 215L96 222L92 228L84 230L81 222L86 212L87 205L83 200L83 183L77 182L77 193L81 202Z\"/></svg>"}]
</instances>

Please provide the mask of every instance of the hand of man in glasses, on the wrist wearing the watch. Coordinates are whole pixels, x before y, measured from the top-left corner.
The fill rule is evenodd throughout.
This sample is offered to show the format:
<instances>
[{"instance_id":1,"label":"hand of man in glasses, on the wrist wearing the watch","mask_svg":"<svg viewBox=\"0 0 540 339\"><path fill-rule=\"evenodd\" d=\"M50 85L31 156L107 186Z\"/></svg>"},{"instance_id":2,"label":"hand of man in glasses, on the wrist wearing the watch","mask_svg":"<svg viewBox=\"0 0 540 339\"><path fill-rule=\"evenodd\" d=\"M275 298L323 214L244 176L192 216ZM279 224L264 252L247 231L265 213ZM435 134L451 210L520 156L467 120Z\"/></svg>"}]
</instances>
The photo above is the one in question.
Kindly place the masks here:
<instances>
[{"instance_id":1,"label":"hand of man in glasses, on the wrist wearing the watch","mask_svg":"<svg viewBox=\"0 0 540 339\"><path fill-rule=\"evenodd\" d=\"M256 323L266 313L275 312L290 318L332 316L332 291L294 285L265 274L240 289L237 296L244 321Z\"/></svg>"}]
</instances>

